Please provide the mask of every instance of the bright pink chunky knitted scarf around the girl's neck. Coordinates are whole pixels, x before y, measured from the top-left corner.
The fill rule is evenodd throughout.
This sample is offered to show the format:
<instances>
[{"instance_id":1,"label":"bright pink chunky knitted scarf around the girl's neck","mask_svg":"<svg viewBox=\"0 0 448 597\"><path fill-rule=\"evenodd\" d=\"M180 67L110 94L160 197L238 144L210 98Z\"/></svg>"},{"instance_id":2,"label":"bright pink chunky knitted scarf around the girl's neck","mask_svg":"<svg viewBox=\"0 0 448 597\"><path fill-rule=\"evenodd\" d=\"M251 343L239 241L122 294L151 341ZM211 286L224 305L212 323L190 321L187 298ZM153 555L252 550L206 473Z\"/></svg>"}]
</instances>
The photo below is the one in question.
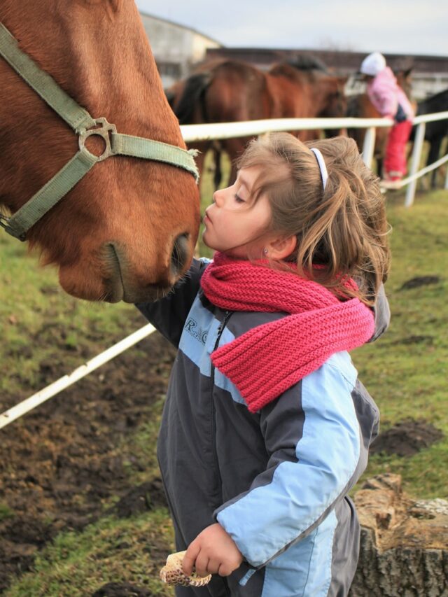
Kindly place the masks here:
<instances>
[{"instance_id":1,"label":"bright pink chunky knitted scarf around the girl's neck","mask_svg":"<svg viewBox=\"0 0 448 597\"><path fill-rule=\"evenodd\" d=\"M251 412L318 369L332 354L365 344L374 332L372 311L357 298L340 302L314 281L232 260L223 253L214 255L201 286L221 309L290 314L258 325L211 353L212 363L237 386Z\"/></svg>"}]
</instances>

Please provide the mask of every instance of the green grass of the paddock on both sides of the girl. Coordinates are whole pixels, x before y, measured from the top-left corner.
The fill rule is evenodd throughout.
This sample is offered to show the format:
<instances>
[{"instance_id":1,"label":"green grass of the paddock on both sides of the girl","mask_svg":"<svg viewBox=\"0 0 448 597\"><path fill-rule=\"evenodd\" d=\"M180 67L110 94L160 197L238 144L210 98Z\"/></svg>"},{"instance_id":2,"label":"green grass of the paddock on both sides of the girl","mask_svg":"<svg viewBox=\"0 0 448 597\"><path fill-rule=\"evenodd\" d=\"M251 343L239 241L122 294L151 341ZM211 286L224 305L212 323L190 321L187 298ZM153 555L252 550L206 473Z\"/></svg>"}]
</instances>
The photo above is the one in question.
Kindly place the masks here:
<instances>
[{"instance_id":1,"label":"green grass of the paddock on both sides of the girl","mask_svg":"<svg viewBox=\"0 0 448 597\"><path fill-rule=\"evenodd\" d=\"M209 202L207 185L203 196ZM405 209L403 202L402 192L387 197L393 227L393 265L386 284L391 327L378 342L355 351L353 361L379 405L383 429L406 418L426 419L444 438L410 457L374 455L364 477L399 473L411 496L447 499L448 191L418 194L411 209ZM435 276L434 283L403 288L417 276ZM39 269L36 259L26 255L25 246L6 234L0 234L0 298L1 410L10 406L12 396L18 402L31 393L38 382L39 363L58 346L66 351L69 372L85 356L94 356L91 351L99 342L106 348L141 325L130 305L87 304L64 295L55 272ZM45 323L49 320L51 325ZM153 458L161 407L162 402L154 421L139 426L123 449L141 454L149 446ZM132 468L130 475L141 482ZM0 503L0 516L1 512ZM105 517L82 533L59 535L38 556L34 572L17 580L5 595L80 597L112 579L170 595L148 569L142 540L162 536L169 542L171 535L167 511L162 508L124 521ZM117 552L118 542L127 547Z\"/></svg>"}]
</instances>

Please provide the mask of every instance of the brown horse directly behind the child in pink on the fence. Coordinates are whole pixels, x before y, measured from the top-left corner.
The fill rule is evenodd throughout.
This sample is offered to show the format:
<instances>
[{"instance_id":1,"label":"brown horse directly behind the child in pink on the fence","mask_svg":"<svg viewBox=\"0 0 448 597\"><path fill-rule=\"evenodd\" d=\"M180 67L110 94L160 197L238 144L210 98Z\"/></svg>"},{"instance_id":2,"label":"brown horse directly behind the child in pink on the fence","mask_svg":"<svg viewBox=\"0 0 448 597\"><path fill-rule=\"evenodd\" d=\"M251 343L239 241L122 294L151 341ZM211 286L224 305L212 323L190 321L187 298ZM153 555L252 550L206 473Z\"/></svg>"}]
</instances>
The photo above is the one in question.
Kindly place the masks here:
<instances>
[{"instance_id":1,"label":"brown horse directly behind the child in pink on the fence","mask_svg":"<svg viewBox=\"0 0 448 597\"><path fill-rule=\"evenodd\" d=\"M398 85L405 92L407 97L412 97L412 69L395 72ZM415 104L414 104L415 107ZM381 118L381 114L370 101L367 93L352 95L347 100L346 115L351 118ZM347 129L349 137L356 141L358 149L363 150L365 132L367 129ZM379 127L375 131L375 144L373 150L374 160L377 162L377 174L381 177L383 170L383 159L386 153L387 137L390 127Z\"/></svg>"}]
</instances>

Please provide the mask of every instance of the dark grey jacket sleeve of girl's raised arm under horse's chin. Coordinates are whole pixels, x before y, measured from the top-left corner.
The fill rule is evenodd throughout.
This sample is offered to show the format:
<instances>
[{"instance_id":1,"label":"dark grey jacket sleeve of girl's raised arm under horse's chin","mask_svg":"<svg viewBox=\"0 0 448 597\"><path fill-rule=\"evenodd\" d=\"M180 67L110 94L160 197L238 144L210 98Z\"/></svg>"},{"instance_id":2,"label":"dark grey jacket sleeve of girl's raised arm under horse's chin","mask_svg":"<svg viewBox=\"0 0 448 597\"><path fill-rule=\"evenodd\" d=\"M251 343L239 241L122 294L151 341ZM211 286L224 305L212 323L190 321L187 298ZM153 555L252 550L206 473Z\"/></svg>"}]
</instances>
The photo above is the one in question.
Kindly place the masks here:
<instances>
[{"instance_id":1,"label":"dark grey jacket sleeve of girl's raised arm under horse's chin","mask_svg":"<svg viewBox=\"0 0 448 597\"><path fill-rule=\"evenodd\" d=\"M200 289L200 280L209 260L193 259L193 263L173 290L155 302L137 303L136 307L159 332L179 346L183 325Z\"/></svg>"}]
</instances>

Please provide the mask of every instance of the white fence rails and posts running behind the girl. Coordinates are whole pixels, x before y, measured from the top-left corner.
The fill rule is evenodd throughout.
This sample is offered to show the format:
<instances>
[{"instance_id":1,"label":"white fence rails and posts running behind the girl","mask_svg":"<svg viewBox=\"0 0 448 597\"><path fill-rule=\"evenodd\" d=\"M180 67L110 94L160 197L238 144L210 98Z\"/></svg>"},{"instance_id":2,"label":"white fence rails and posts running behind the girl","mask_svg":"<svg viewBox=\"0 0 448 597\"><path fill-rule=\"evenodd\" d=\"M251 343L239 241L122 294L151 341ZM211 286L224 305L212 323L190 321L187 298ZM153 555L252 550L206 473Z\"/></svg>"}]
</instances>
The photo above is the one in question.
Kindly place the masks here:
<instances>
[{"instance_id":1,"label":"white fence rails and posts running behind the girl","mask_svg":"<svg viewBox=\"0 0 448 597\"><path fill-rule=\"evenodd\" d=\"M412 150L411 165L409 168L409 176L403 178L397 185L397 188L407 185L405 205L411 206L414 202L414 195L416 189L416 180L431 170L440 167L445 162L448 162L448 154L444 155L428 165L426 168L419 170L421 160L421 150L423 148L423 141L425 136L426 122L434 122L435 120L448 119L447 112L438 112L434 114L426 114L414 118L414 124L417 125L416 135L414 140L414 148ZM369 167L372 163L375 129L377 127L390 127L393 125L392 120L386 118L281 118L269 120L250 120L246 122L220 122L217 124L207 125L183 125L181 127L183 138L186 142L192 143L195 141L211 141L214 139L232 139L241 136L254 136L264 134L269 131L294 131L294 130L319 130L319 129L343 129L343 128L365 128L367 129L364 147L363 160ZM448 188L448 174L445 180L445 188ZM126 349L130 348L146 336L155 331L151 324L145 325L137 332L120 340L106 351L80 365L71 374L61 377L54 383L50 384L43 390L30 396L20 404L6 410L0 414L0 429L15 421L23 414L26 414L36 406L57 395L65 388L71 386L79 379L82 379L90 372L97 369L100 365L107 363L109 360L118 356Z\"/></svg>"}]
</instances>

